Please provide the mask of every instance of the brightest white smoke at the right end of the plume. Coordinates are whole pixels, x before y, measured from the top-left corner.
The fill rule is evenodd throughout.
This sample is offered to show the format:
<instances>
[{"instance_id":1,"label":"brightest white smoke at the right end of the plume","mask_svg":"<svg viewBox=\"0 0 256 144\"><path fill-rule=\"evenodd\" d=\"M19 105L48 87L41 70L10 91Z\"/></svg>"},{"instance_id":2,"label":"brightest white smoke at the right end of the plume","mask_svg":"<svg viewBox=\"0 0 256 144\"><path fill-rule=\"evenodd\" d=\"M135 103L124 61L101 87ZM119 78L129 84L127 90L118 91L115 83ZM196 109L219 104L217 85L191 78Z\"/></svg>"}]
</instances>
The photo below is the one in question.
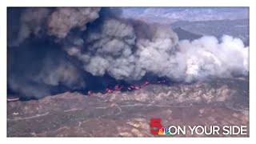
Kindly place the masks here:
<instances>
[{"instance_id":1,"label":"brightest white smoke at the right end of the plume","mask_svg":"<svg viewBox=\"0 0 256 144\"><path fill-rule=\"evenodd\" d=\"M207 76L231 77L248 73L248 47L241 39L228 35L205 36L189 42L179 42L180 54L186 61L185 80L190 82Z\"/></svg>"}]
</instances>

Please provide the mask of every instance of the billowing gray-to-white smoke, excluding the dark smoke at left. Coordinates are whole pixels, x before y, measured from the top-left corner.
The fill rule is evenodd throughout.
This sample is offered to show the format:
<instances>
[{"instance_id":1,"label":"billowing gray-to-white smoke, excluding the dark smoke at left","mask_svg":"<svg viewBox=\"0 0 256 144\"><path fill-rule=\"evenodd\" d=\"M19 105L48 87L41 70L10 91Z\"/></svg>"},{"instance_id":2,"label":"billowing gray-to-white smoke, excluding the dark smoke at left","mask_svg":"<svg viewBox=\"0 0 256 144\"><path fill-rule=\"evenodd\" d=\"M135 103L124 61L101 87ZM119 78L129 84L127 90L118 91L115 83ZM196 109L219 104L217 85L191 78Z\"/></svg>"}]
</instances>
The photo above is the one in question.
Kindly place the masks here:
<instances>
[{"instance_id":1,"label":"billowing gray-to-white smoke, excluding the dark smoke at left","mask_svg":"<svg viewBox=\"0 0 256 144\"><path fill-rule=\"evenodd\" d=\"M192 82L248 73L248 47L238 38L225 35L218 42L205 36L178 42L177 34L166 26L156 26L150 34L150 38L140 38L128 23L109 19L101 30L88 33L85 48L66 50L84 63L87 72L98 76L107 73L116 79L139 80L151 73ZM87 51L81 53L81 49Z\"/></svg>"}]
</instances>

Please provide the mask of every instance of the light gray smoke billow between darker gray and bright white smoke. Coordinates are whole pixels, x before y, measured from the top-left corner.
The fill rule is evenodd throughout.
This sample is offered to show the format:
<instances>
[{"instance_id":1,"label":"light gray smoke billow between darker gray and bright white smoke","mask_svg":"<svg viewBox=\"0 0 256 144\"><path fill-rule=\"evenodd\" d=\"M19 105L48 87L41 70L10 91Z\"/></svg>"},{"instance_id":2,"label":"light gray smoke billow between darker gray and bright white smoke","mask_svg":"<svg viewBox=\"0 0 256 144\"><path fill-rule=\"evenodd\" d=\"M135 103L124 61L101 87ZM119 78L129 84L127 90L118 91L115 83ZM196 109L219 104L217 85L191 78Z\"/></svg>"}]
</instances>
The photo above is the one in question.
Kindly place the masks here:
<instances>
[{"instance_id":1,"label":"light gray smoke billow between darker gray and bright white smoke","mask_svg":"<svg viewBox=\"0 0 256 144\"><path fill-rule=\"evenodd\" d=\"M136 65L145 72L169 78L180 78L180 71L184 69L178 58L177 51L178 36L170 28L159 26L151 33L152 38L138 39L138 50ZM145 74L144 72L144 74Z\"/></svg>"}]
</instances>

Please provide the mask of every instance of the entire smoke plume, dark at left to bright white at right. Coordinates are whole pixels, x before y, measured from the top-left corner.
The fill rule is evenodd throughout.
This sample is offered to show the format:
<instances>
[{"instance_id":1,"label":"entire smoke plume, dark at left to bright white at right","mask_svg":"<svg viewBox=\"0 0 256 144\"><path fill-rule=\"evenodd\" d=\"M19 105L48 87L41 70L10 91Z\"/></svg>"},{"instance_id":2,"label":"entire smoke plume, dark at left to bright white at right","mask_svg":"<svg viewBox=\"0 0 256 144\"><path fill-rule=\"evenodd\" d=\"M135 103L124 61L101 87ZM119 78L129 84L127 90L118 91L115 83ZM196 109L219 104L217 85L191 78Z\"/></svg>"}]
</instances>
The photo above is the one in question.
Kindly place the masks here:
<instances>
[{"instance_id":1,"label":"entire smoke plume, dark at left to bright white at right","mask_svg":"<svg viewBox=\"0 0 256 144\"><path fill-rule=\"evenodd\" d=\"M40 97L50 94L48 86L86 86L83 73L109 74L126 81L154 74L177 82L248 74L248 47L238 38L224 35L220 42L211 36L178 41L170 26L122 19L110 11L81 7L22 10L18 37L9 39L9 48L22 49L20 45L39 32L59 47L47 48L50 54L43 58L35 56L42 66L31 68L26 66L30 62L12 60L14 54L9 50L10 89ZM17 68L19 62L24 67Z\"/></svg>"}]
</instances>

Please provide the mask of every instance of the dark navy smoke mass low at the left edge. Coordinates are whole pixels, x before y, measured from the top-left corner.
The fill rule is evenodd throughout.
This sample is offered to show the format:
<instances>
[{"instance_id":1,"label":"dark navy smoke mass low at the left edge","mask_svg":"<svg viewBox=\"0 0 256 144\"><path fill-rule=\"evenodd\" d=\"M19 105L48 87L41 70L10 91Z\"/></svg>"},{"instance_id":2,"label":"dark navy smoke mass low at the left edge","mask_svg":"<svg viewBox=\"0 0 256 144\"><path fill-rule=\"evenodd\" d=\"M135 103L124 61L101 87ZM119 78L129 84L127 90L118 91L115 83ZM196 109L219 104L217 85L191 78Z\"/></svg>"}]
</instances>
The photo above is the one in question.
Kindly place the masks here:
<instances>
[{"instance_id":1,"label":"dark navy smoke mass low at the left edge","mask_svg":"<svg viewBox=\"0 0 256 144\"><path fill-rule=\"evenodd\" d=\"M54 50L52 50L54 49ZM82 73L57 47L18 47L8 50L8 85L28 97L51 94L59 85L85 86ZM47 52L47 51L50 51Z\"/></svg>"}]
</instances>

